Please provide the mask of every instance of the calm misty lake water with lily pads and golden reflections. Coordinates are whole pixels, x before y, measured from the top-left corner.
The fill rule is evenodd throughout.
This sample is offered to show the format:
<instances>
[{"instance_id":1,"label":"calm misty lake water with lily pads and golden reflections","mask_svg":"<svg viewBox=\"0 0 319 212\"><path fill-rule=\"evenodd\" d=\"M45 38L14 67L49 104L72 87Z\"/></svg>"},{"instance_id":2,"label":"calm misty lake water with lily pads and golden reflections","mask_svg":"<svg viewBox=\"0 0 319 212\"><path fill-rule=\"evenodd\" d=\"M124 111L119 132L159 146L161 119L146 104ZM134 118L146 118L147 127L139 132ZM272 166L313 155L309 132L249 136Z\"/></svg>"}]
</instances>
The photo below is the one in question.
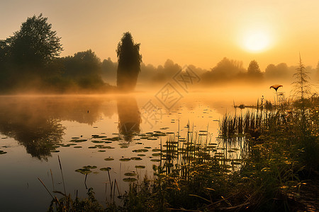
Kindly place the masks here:
<instances>
[{"instance_id":1,"label":"calm misty lake water with lily pads and golden reflections","mask_svg":"<svg viewBox=\"0 0 319 212\"><path fill-rule=\"evenodd\" d=\"M52 198L38 178L51 193L64 192L58 156L67 194L85 197L92 187L102 204L111 201L110 179L116 196L128 190L126 181L152 179L160 144L186 136L187 127L222 146L223 114L242 112L234 103L255 105L262 95L273 100L268 89L1 96L0 211L47 210ZM96 167L84 175L79 169L87 165Z\"/></svg>"}]
</instances>

